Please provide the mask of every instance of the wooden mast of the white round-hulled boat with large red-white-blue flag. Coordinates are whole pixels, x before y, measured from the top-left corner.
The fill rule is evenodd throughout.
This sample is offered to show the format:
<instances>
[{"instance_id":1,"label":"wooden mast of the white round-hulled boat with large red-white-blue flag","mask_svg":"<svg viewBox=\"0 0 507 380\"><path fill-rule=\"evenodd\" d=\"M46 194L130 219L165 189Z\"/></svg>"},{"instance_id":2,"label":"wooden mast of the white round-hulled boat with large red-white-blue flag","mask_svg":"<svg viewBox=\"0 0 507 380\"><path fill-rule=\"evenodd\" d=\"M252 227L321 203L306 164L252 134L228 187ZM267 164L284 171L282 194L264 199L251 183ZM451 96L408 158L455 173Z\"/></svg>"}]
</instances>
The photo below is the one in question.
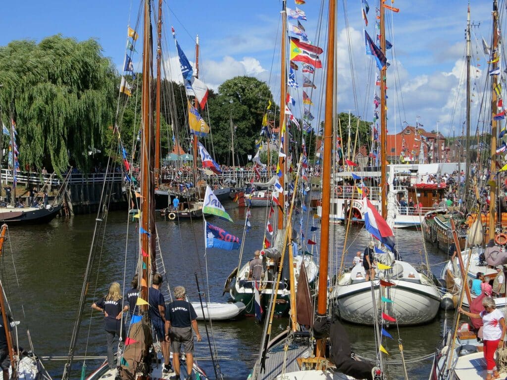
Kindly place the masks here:
<instances>
[{"instance_id":1,"label":"wooden mast of the white round-hulled boat with large red-white-blue flag","mask_svg":"<svg viewBox=\"0 0 507 380\"><path fill-rule=\"evenodd\" d=\"M385 25L384 1L380 1L380 50L385 55ZM387 116L386 116L386 70L384 65L380 70L380 213L387 218Z\"/></svg>"}]
</instances>

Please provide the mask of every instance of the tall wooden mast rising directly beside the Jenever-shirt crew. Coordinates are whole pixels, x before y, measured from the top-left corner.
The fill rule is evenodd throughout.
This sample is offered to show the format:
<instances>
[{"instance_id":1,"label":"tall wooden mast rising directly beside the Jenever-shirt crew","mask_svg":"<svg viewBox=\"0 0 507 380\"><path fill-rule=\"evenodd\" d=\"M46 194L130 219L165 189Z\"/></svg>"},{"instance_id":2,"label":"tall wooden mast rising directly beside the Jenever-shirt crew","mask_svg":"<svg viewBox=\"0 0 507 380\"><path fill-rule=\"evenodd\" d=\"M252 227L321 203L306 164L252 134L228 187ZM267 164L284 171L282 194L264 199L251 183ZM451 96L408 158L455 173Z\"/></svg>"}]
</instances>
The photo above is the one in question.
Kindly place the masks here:
<instances>
[{"instance_id":1,"label":"tall wooden mast rising directly beside the Jenever-shirt crew","mask_svg":"<svg viewBox=\"0 0 507 380\"><path fill-rule=\"evenodd\" d=\"M140 252L142 257L141 268L141 298L148 300L148 278L150 257L152 252L151 237L155 233L155 225L151 223L153 200L153 162L152 162L152 113L150 112L151 95L151 44L150 44L150 1L144 0L143 22L143 50L142 50L142 95L141 95L141 215L139 227L147 233L140 234ZM150 233L150 236L149 234ZM154 240L154 239L153 239ZM141 311L147 312L146 305L140 306Z\"/></svg>"}]
</instances>

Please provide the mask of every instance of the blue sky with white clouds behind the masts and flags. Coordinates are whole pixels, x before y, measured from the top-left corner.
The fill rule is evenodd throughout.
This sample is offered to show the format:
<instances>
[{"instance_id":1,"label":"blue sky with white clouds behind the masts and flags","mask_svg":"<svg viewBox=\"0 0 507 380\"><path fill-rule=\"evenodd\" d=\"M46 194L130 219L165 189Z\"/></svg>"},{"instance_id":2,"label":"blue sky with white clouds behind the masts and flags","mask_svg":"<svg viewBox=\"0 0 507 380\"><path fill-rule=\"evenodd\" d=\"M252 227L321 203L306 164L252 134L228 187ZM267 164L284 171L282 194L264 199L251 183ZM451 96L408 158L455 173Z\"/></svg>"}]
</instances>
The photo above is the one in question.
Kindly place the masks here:
<instances>
[{"instance_id":1,"label":"blue sky with white clouds behind the masts and flags","mask_svg":"<svg viewBox=\"0 0 507 380\"><path fill-rule=\"evenodd\" d=\"M373 36L375 2L368 2L370 12L366 29ZM0 46L19 39L40 41L57 33L79 41L95 38L103 48L103 55L110 57L120 71L127 25L136 26L140 1L25 0L5 3L0 13L3 30ZM352 113L371 121L375 67L373 58L365 54L361 2L345 0L337 3L337 107L339 111L352 109ZM484 86L483 68L487 64L476 40L480 42L484 37L490 41L491 3L489 0L470 1L472 21L480 24L472 35L473 73L478 75L477 79L474 78L473 93L477 98ZM465 109L466 0L395 0L393 4L390 1L387 4L400 9L399 13L386 11L386 38L393 44L387 55L391 63L387 70L388 132L400 132L404 122L414 125L419 117L428 131L437 129L438 125L439 131L446 135L460 135ZM287 0L287 7L294 9L294 0ZM321 17L322 7L324 14ZM309 39L325 50L327 2L306 0L306 4L298 8L306 12L308 20L301 22ZM252 75L268 83L273 96L278 99L280 10L280 0L165 0L166 42L163 50L164 57L167 57L166 72L179 80L179 65L170 32L170 26L174 26L178 42L191 62L195 60L195 36L199 35L200 78L210 88L216 90L221 83L237 75ZM137 51L141 51L140 44ZM321 58L325 60L325 51ZM134 64L137 65L139 59L139 55L134 55ZM481 66L477 67L477 64ZM314 103L311 111L316 118L313 126L323 114L318 105L323 87L322 71L316 70L313 80L317 89L309 94ZM297 72L300 84L303 82L301 75L300 69ZM300 116L302 88L292 91L297 100L293 112ZM477 104L476 101L473 106ZM474 111L472 120L474 125Z\"/></svg>"}]
</instances>

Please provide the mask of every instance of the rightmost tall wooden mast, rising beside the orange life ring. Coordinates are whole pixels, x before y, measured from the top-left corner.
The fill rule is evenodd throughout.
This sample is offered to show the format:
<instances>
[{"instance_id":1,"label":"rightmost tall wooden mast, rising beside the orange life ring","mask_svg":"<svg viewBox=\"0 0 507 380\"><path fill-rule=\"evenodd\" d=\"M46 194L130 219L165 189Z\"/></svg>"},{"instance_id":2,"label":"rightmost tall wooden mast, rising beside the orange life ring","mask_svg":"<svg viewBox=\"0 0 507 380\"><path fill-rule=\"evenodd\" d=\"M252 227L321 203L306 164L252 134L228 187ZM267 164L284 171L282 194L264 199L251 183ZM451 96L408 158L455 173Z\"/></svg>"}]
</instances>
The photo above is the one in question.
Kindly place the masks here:
<instances>
[{"instance_id":1,"label":"rightmost tall wooden mast, rising beside the orange life ring","mask_svg":"<svg viewBox=\"0 0 507 380\"><path fill-rule=\"evenodd\" d=\"M497 33L497 22L498 22L498 0L493 0L493 43L491 44L491 69L494 70L498 67L496 59L498 57L498 33ZM496 113L496 101L497 96L495 87L498 84L498 75L491 75L491 168L490 168L490 191L489 191L489 240L495 238L495 211L496 211L496 135L497 135L497 123L494 118Z\"/></svg>"}]
</instances>

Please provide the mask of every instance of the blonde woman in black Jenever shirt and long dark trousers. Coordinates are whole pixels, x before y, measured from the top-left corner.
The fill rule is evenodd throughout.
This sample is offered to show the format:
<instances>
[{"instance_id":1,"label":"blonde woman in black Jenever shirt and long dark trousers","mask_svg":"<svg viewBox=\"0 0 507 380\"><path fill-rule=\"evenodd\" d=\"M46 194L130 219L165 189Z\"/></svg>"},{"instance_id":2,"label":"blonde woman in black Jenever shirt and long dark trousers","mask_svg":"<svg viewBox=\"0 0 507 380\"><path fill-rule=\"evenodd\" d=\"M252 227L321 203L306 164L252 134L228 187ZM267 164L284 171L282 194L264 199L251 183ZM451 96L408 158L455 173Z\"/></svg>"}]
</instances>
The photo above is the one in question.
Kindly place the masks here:
<instances>
[{"instance_id":1,"label":"blonde woman in black Jenever shirt and long dark trousers","mask_svg":"<svg viewBox=\"0 0 507 380\"><path fill-rule=\"evenodd\" d=\"M113 282L107 294L97 302L93 302L92 308L104 313L104 330L107 335L107 364L115 369L114 340L125 336L125 326L122 323L122 315L128 310L128 305L123 307L120 284Z\"/></svg>"}]
</instances>

